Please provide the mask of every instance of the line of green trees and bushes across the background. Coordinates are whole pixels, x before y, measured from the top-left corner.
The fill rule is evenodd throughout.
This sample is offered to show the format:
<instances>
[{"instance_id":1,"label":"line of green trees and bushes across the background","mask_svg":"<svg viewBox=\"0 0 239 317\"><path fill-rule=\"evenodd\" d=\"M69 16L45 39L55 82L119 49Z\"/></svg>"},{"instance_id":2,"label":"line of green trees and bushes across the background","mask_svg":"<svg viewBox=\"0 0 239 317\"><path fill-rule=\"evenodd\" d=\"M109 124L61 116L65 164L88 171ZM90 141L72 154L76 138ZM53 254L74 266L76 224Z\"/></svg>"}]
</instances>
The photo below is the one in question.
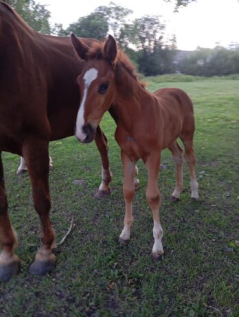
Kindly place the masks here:
<instances>
[{"instance_id":1,"label":"line of green trees and bushes across the background","mask_svg":"<svg viewBox=\"0 0 239 317\"><path fill-rule=\"evenodd\" d=\"M171 0L165 0L171 1ZM194 0L177 0L175 10ZM185 73L190 75L228 75L239 73L239 49L216 47L216 49L197 49L177 58L177 39L164 34L166 25L161 16L146 15L129 19L132 10L111 2L101 5L91 14L81 16L64 29L62 24L49 23L50 12L45 5L34 0L5 0L12 5L34 30L45 34L69 36L74 33L85 38L102 40L113 34L120 47L126 51L140 73L161 75L165 73Z\"/></svg>"}]
</instances>

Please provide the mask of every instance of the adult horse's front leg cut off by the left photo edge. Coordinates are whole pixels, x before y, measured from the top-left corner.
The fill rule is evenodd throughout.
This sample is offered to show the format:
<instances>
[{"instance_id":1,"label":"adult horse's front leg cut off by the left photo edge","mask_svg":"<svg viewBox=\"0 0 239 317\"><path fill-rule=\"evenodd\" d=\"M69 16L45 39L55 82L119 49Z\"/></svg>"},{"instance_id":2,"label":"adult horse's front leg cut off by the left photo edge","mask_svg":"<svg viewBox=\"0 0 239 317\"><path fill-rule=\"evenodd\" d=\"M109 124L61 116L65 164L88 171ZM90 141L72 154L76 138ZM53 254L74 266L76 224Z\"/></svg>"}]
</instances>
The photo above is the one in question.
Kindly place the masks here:
<instances>
[{"instance_id":1,"label":"adult horse's front leg cut off by the left photo edge","mask_svg":"<svg viewBox=\"0 0 239 317\"><path fill-rule=\"evenodd\" d=\"M19 257L14 255L14 246L18 244L8 218L8 200L5 194L3 164L0 152L0 242L2 251L0 254L0 280L8 281L12 275L19 271Z\"/></svg>"}]
</instances>

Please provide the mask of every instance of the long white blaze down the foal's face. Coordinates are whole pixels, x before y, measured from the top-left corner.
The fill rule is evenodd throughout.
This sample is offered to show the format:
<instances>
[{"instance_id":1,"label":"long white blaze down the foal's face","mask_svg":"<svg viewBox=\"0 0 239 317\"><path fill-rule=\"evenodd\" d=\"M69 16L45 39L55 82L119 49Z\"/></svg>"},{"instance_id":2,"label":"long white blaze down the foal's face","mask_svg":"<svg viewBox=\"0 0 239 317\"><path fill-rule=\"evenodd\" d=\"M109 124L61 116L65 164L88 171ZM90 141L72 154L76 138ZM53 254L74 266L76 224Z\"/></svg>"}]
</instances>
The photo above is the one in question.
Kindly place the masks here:
<instances>
[{"instance_id":1,"label":"long white blaze down the foal's face","mask_svg":"<svg viewBox=\"0 0 239 317\"><path fill-rule=\"evenodd\" d=\"M78 110L77 119L76 119L76 137L80 141L84 141L85 134L82 131L82 127L84 126L84 104L87 100L87 92L89 89L89 86L91 85L91 82L95 80L98 76L98 70L91 68L88 71L84 73L84 91L83 91L83 97L82 102L80 104L80 109Z\"/></svg>"}]
</instances>

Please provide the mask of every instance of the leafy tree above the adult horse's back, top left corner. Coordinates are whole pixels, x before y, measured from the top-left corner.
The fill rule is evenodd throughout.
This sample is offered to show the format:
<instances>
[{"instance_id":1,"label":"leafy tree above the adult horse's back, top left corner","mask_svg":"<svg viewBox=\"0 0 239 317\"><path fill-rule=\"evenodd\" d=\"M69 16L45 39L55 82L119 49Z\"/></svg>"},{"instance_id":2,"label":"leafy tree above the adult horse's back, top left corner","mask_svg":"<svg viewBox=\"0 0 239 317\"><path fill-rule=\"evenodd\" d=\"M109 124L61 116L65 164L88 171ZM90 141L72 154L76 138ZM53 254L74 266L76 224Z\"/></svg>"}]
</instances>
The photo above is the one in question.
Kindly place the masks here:
<instances>
[{"instance_id":1,"label":"leafy tree above the adult horse's back, top left corner","mask_svg":"<svg viewBox=\"0 0 239 317\"><path fill-rule=\"evenodd\" d=\"M35 31L51 34L52 29L49 24L51 14L45 5L34 0L5 0L5 3L11 5Z\"/></svg>"}]
</instances>

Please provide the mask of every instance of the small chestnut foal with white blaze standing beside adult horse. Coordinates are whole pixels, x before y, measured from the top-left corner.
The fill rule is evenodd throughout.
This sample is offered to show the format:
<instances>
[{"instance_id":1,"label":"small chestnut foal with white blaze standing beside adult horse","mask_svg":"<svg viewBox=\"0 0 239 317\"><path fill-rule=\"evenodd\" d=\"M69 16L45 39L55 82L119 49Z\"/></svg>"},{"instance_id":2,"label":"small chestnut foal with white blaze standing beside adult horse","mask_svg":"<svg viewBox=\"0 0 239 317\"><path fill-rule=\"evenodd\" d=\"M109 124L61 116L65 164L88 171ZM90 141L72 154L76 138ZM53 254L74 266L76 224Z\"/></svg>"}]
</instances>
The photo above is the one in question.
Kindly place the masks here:
<instances>
[{"instance_id":1,"label":"small chestnut foal with white blaze standing beside adult horse","mask_svg":"<svg viewBox=\"0 0 239 317\"><path fill-rule=\"evenodd\" d=\"M124 167L126 213L120 241L128 242L130 239L135 195L133 176L135 164L141 158L148 169L146 198L154 220L152 257L159 259L163 254L158 188L161 150L169 148L174 158L177 178L172 198L176 200L179 199L183 184L183 151L177 143L178 137L183 142L185 161L190 168L191 197L198 199L192 101L181 89L165 88L153 94L148 92L144 84L137 80L126 55L117 49L113 36L109 36L105 43L95 43L92 47L73 34L71 40L80 58L86 61L77 79L81 98L76 137L83 143L92 141L104 113L111 107L110 113L117 125L115 139L121 148Z\"/></svg>"}]
</instances>

